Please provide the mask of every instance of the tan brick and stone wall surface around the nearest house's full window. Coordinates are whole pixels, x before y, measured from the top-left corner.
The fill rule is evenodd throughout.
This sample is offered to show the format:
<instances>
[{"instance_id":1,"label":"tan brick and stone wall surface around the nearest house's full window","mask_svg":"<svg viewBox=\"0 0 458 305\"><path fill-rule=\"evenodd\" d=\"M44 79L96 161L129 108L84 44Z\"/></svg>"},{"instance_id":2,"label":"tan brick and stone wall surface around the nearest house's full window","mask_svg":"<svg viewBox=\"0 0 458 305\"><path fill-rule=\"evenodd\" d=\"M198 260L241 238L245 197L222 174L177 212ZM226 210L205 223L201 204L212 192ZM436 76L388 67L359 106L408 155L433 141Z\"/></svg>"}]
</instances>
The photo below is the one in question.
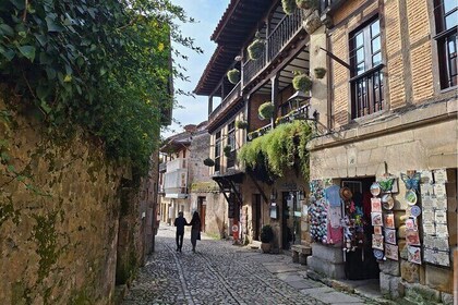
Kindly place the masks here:
<instances>
[{"instance_id":1,"label":"tan brick and stone wall surface around the nearest house's full window","mask_svg":"<svg viewBox=\"0 0 458 305\"><path fill-rule=\"evenodd\" d=\"M383 69L384 110L351 120L350 71L329 59L330 91L327 99L330 103L323 107L326 101L322 99L320 112L330 115L330 121L321 115L320 123L330 132L326 135L322 133L310 143L311 179L332 178L335 184L340 184L346 179L381 179L386 170L399 176L408 170L446 168L449 180L447 218L449 245L453 249L458 244L455 212L457 99L455 91L441 90L438 86L436 45L432 38L432 4L413 0L347 1L333 12L334 25L327 29L328 49L349 63L351 33L377 15L382 28L383 62L386 63ZM311 49L320 42L323 44L313 39L312 35ZM314 87L313 96L320 94ZM378 264L381 291L393 298L407 295L411 300L420 300L413 295L429 295L425 301L450 302L454 283L451 267L439 268L407 261L405 227L401 221L407 208L405 193L406 187L400 181L399 194L394 196L400 259ZM323 257L321 254L315 255L316 251L323 251L321 247L314 247L315 258L309 259L312 269L320 269L320 264L314 263ZM334 264L333 270L317 271L329 277L343 277L341 257L330 263Z\"/></svg>"}]
</instances>

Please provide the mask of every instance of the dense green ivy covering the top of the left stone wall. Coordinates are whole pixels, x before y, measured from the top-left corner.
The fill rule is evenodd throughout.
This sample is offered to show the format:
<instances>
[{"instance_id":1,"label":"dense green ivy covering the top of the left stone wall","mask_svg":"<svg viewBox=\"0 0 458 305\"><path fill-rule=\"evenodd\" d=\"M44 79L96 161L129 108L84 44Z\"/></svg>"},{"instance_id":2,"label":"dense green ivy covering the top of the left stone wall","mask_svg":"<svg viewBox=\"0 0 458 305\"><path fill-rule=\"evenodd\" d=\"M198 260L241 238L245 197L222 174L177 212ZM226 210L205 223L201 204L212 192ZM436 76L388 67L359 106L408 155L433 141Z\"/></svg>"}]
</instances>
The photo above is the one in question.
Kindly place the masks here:
<instances>
[{"instance_id":1,"label":"dense green ivy covering the top of the left stone wall","mask_svg":"<svg viewBox=\"0 0 458 305\"><path fill-rule=\"evenodd\" d=\"M170 37L201 51L177 19L192 21L169 0L1 1L0 83L53 133L80 125L145 173L160 110L172 107Z\"/></svg>"}]
</instances>

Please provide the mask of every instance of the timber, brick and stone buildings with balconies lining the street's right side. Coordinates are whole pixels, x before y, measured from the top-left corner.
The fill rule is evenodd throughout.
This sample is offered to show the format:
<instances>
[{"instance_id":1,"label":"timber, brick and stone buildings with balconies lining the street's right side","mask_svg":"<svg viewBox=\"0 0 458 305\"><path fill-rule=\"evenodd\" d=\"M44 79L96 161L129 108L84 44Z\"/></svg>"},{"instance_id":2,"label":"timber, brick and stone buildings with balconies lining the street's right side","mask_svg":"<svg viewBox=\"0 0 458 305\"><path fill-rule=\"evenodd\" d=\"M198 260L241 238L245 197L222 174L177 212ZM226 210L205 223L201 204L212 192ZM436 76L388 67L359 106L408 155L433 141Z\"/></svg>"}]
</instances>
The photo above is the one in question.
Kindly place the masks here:
<instances>
[{"instance_id":1,"label":"timber, brick and stone buildings with balconies lining the street's right side","mask_svg":"<svg viewBox=\"0 0 458 305\"><path fill-rule=\"evenodd\" d=\"M458 244L457 5L446 0L315 4L285 14L280 1L256 8L231 1L212 35L218 47L195 93L209 97L210 157L217 163L210 174L228 194L229 208L237 209L229 221L250 240L270 223L274 243L288 248L290 199L306 193L305 204L292 205L293 216L300 215L300 243L313 241L311 270L330 278L379 279L381 291L393 298L421 300L422 294L430 295L425 302L451 303ZM241 19L252 22L239 24ZM249 58L256 38L267 50L261 59ZM226 78L233 68L241 75L237 84ZM321 68L325 77L313 77ZM300 95L287 74L294 70L313 78L311 95L302 99L305 120L316 122L308 144L310 180L289 172L267 183L231 158L254 135L275 132L276 118L298 109L291 101ZM270 123L257 118L266 100L276 109ZM248 121L246 131L233 129L241 120ZM232 148L227 156L226 146ZM370 192L388 180L395 188ZM337 197L340 211L329 209L330 197L323 195L333 185L351 192ZM323 218L314 216L317 202ZM377 202L385 204L379 211ZM393 220L389 227L377 222L385 218ZM360 236L352 239L357 234L346 229L361 230ZM369 271L358 273L358 268Z\"/></svg>"}]
</instances>

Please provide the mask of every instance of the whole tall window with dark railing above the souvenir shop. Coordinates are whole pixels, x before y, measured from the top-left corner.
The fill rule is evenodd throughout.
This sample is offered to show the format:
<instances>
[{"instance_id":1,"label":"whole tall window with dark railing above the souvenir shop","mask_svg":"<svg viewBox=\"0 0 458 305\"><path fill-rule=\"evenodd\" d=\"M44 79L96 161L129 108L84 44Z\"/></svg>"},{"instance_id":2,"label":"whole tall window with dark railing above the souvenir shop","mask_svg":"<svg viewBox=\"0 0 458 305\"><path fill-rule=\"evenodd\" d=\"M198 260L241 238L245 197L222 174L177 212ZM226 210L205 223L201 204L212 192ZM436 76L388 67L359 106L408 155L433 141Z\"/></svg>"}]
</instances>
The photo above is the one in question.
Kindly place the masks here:
<instances>
[{"instance_id":1,"label":"whole tall window with dark railing above the souvenir shop","mask_svg":"<svg viewBox=\"0 0 458 305\"><path fill-rule=\"evenodd\" d=\"M350 35L351 119L383 109L382 37L378 19Z\"/></svg>"}]
</instances>

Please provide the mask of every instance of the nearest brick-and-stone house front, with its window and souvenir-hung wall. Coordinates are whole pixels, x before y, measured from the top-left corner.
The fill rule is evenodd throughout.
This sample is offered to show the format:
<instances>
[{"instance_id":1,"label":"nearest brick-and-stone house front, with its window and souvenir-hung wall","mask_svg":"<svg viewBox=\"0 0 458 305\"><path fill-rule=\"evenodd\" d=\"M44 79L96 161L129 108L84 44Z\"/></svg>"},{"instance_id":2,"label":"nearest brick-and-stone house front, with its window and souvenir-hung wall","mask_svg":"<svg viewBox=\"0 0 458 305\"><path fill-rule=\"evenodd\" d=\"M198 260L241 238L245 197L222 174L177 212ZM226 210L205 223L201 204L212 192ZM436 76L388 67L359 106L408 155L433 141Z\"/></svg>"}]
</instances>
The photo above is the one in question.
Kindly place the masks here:
<instances>
[{"instance_id":1,"label":"nearest brick-and-stone house front, with its window and souvenir-hung wall","mask_svg":"<svg viewBox=\"0 0 458 305\"><path fill-rule=\"evenodd\" d=\"M396 239L391 243L396 255L386 257L393 246L385 240L379 248L383 255L376 260L379 272L374 269L372 276L379 278L382 293L393 298L406 294L420 300L420 294L430 293L426 302L451 304L456 284L453 251L458 244L457 78L456 68L449 65L456 53L444 49L444 39L456 46L456 28L454 32L454 22L444 19L456 10L456 3L332 2L322 11L326 25L311 35L311 48L326 46L323 48L348 63L349 69L329 57L325 80L328 90L316 99L321 93L312 91L312 102L326 115L320 120L323 134L310 143L311 180L330 179L333 184L360 185L367 192L372 183L387 175L396 178L398 190L390 194L394 206L382 210L384 217L393 215L395 220ZM451 34L445 33L447 28ZM450 36L444 38L444 33ZM418 218L406 199L406 194L411 194L409 184L402 180L403 174L414 172L423 176L414 206L424 213ZM446 215L441 221L431 219L430 213L426 217L433 208L427 203L430 186L422 183L431 172L434 176L439 172L447 175L445 195L433 195L444 196L446 203L445 207L434 207L436 215ZM420 237L413 244L406 228L409 219L415 220ZM446 228L447 232L426 230L431 225ZM385 239L390 230L385 224ZM446 246L433 253L430 239L443 239ZM412 249L421 254L421 259L411 257ZM443 261L437 261L438 257ZM345 278L350 265L358 264L349 260L341 246L315 243L308 263L318 272Z\"/></svg>"}]
</instances>

